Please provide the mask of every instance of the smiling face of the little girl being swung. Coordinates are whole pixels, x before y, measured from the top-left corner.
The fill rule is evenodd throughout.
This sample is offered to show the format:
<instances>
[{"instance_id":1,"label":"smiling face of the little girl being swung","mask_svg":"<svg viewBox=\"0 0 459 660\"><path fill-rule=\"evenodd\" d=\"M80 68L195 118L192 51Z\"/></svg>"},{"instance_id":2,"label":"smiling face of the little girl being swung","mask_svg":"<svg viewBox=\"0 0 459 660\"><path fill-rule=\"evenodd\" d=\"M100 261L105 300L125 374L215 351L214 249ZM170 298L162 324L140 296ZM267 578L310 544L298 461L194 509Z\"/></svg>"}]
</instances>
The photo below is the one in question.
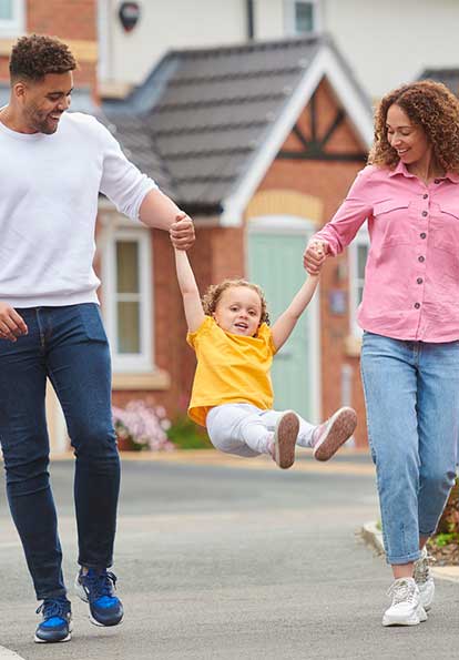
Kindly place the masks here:
<instances>
[{"instance_id":1,"label":"smiling face of the little girl being swung","mask_svg":"<svg viewBox=\"0 0 459 660\"><path fill-rule=\"evenodd\" d=\"M253 337L262 318L262 301L248 286L230 286L223 292L213 316L225 332Z\"/></svg>"}]
</instances>

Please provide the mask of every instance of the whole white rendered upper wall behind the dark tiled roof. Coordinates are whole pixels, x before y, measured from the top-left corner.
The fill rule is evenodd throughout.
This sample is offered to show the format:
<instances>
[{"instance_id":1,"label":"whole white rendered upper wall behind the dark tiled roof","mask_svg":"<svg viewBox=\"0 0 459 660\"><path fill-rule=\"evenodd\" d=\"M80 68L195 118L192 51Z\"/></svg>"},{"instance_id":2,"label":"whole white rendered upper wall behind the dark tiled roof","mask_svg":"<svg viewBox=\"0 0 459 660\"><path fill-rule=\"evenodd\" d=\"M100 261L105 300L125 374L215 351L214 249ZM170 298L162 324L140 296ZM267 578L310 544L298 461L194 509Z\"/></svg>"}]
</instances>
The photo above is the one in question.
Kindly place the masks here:
<instances>
[{"instance_id":1,"label":"whole white rendered upper wall behind the dark tiled roof","mask_svg":"<svg viewBox=\"0 0 459 660\"><path fill-rule=\"evenodd\" d=\"M255 0L257 39L286 35L289 0ZM459 67L459 0L319 0L320 20L370 97L428 67ZM246 0L143 0L123 32L118 0L99 0L101 80L139 84L170 49L242 43Z\"/></svg>"}]
</instances>

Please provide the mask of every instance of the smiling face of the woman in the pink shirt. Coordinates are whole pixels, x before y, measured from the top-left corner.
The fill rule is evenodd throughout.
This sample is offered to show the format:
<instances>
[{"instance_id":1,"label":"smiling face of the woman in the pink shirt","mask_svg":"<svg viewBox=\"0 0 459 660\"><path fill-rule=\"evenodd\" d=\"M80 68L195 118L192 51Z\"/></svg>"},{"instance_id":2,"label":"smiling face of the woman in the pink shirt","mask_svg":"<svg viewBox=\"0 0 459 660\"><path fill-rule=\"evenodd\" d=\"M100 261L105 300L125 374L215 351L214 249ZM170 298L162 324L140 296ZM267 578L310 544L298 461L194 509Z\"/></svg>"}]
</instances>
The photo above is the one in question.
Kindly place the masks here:
<instances>
[{"instance_id":1,"label":"smiling face of the woman in the pink shirt","mask_svg":"<svg viewBox=\"0 0 459 660\"><path fill-rule=\"evenodd\" d=\"M387 111L386 130L387 141L408 170L410 165L421 165L430 159L432 146L425 130L396 103Z\"/></svg>"}]
</instances>

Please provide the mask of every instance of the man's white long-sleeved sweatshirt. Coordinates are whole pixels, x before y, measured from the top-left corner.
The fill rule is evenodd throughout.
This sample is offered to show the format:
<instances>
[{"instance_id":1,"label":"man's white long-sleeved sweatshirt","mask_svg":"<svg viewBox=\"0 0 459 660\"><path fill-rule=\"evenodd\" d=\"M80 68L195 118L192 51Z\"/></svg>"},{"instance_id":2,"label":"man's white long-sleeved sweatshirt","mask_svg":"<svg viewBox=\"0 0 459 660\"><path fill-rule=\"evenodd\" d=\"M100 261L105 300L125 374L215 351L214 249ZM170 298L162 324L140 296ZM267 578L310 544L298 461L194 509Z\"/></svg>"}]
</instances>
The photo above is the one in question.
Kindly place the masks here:
<instances>
[{"instance_id":1,"label":"man's white long-sleeved sweatshirt","mask_svg":"<svg viewBox=\"0 0 459 660\"><path fill-rule=\"evenodd\" d=\"M64 113L52 135L0 122L0 302L96 303L99 192L133 220L156 184L93 116Z\"/></svg>"}]
</instances>

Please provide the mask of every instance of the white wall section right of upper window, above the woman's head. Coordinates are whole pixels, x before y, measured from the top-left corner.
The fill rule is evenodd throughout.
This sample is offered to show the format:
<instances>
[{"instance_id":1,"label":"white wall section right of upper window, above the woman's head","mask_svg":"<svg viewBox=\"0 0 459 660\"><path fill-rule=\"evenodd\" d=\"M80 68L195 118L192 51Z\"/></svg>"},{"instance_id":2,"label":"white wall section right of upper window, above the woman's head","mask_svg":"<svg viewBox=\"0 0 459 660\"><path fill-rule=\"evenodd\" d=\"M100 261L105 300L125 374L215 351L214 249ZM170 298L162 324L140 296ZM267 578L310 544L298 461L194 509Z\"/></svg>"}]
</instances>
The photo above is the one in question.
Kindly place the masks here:
<instances>
[{"instance_id":1,"label":"white wall section right of upper window, above the woman's head","mask_svg":"<svg viewBox=\"0 0 459 660\"><path fill-rule=\"evenodd\" d=\"M323 20L367 92L459 67L459 0L325 0Z\"/></svg>"}]
</instances>

